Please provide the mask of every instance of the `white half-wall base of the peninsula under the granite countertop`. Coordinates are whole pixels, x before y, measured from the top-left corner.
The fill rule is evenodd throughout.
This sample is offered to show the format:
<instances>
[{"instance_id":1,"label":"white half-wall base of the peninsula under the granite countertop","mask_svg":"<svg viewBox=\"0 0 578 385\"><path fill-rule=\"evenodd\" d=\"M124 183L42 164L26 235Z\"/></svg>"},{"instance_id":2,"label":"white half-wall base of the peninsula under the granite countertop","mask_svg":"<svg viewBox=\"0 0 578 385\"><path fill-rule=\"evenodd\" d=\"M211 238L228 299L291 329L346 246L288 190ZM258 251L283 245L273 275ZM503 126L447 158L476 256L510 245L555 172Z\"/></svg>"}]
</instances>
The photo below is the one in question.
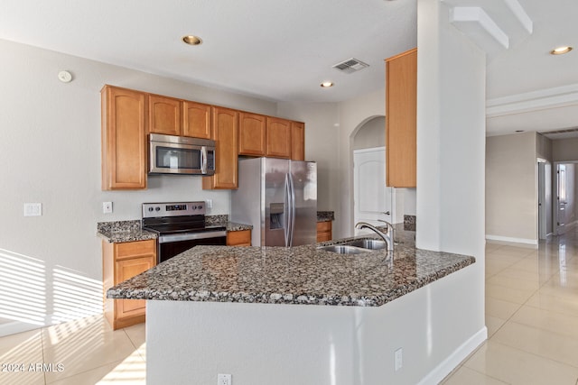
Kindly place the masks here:
<instances>
[{"instance_id":1,"label":"white half-wall base of the peninsula under the granite countertop","mask_svg":"<svg viewBox=\"0 0 578 385\"><path fill-rule=\"evenodd\" d=\"M147 384L438 383L487 338L475 269L380 307L148 300Z\"/></svg>"}]
</instances>

